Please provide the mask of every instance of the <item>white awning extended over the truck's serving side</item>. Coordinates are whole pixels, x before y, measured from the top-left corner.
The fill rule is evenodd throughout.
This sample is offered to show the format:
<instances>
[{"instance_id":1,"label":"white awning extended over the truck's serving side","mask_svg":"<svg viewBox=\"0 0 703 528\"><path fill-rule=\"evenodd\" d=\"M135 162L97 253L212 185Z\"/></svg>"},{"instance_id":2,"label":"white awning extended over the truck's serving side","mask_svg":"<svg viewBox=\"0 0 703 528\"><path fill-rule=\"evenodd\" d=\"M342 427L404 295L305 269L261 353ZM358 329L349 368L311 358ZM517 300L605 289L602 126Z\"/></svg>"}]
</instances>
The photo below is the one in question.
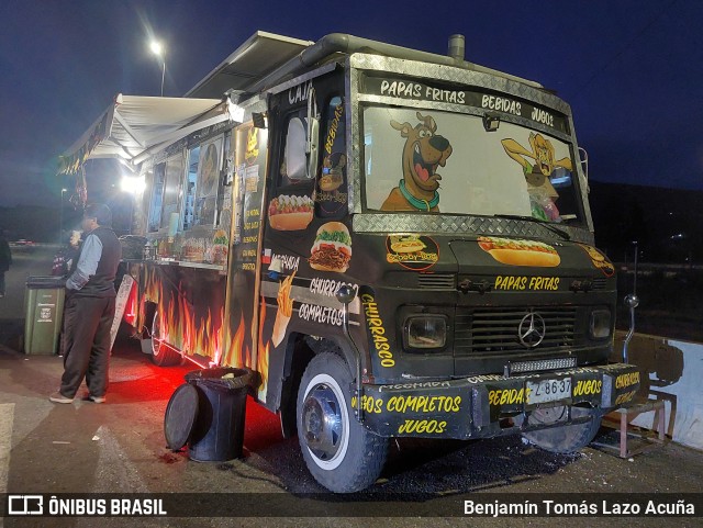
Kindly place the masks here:
<instances>
[{"instance_id":1,"label":"white awning extended over the truck's serving side","mask_svg":"<svg viewBox=\"0 0 703 528\"><path fill-rule=\"evenodd\" d=\"M59 173L76 172L88 159L118 158L135 166L147 153L225 120L241 121L228 99L123 96L59 157Z\"/></svg>"}]
</instances>

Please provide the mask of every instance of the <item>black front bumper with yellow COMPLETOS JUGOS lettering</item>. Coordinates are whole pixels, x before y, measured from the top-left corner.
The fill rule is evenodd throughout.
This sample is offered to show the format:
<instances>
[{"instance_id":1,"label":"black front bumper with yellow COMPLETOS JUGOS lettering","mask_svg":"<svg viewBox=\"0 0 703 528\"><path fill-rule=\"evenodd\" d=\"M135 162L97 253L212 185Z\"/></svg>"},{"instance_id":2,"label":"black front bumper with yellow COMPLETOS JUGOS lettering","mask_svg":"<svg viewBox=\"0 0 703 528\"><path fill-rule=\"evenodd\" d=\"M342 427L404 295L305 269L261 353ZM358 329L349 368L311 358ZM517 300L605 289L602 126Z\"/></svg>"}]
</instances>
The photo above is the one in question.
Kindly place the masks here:
<instances>
[{"instance_id":1,"label":"black front bumper with yellow COMPLETOS JUGOS lettering","mask_svg":"<svg viewBox=\"0 0 703 528\"><path fill-rule=\"evenodd\" d=\"M562 382L570 380L570 390L561 391L556 398L532 395L536 384L547 380L561 389ZM624 363L509 378L489 374L394 385L369 384L364 385L362 423L383 437L490 438L521 432L509 418L528 416L535 408L578 405L607 412L632 401L638 389L637 367ZM356 406L356 398L352 403ZM544 428L570 423L567 418Z\"/></svg>"}]
</instances>

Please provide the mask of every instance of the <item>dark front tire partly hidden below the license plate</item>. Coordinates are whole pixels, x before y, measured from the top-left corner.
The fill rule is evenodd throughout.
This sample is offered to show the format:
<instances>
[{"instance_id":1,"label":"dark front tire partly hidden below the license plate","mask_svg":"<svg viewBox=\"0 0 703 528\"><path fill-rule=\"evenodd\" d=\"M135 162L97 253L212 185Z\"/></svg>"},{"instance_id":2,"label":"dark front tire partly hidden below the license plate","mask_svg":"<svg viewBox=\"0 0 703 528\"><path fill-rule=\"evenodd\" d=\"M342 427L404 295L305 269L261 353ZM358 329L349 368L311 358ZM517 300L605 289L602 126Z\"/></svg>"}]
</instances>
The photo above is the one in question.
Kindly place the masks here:
<instances>
[{"instance_id":1,"label":"dark front tire partly hidden below the license plate","mask_svg":"<svg viewBox=\"0 0 703 528\"><path fill-rule=\"evenodd\" d=\"M553 424L566 417L567 407L551 407L535 409L528 424ZM553 453L572 453L584 448L595 437L600 426L603 412L598 408L571 407L571 417L581 418L591 416L591 420L584 424L565 425L551 429L523 432L523 437L535 443L537 447Z\"/></svg>"}]
</instances>

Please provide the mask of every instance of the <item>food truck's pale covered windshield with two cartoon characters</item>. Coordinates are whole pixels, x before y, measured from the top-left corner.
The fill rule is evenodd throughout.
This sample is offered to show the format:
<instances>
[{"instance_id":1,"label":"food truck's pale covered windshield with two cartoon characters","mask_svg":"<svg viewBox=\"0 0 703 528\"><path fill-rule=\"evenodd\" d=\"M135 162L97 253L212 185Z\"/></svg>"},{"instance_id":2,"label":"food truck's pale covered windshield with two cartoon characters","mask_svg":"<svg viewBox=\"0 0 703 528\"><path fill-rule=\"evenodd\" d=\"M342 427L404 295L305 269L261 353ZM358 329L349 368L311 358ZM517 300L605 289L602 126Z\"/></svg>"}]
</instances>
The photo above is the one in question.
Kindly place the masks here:
<instances>
[{"instance_id":1,"label":"food truck's pale covered windshield with two cartoon characters","mask_svg":"<svg viewBox=\"0 0 703 528\"><path fill-rule=\"evenodd\" d=\"M364 110L366 210L580 223L569 144L507 122L404 108Z\"/></svg>"}]
</instances>

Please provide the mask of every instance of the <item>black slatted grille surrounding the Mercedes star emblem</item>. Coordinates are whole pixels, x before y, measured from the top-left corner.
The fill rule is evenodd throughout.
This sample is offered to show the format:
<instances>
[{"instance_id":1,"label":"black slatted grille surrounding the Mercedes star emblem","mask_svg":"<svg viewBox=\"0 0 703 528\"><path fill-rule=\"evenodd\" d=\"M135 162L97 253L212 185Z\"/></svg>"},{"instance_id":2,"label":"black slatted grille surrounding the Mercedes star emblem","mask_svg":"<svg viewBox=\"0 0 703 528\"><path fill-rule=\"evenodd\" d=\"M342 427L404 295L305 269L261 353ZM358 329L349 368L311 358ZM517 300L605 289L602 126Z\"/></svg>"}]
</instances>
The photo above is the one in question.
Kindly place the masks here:
<instances>
[{"instance_id":1,"label":"black slatted grille surrounding the Mercedes star emblem","mask_svg":"<svg viewBox=\"0 0 703 528\"><path fill-rule=\"evenodd\" d=\"M545 338L533 349L525 347L517 337L520 322L531 310L544 318L546 326ZM577 345L576 315L576 306L458 308L454 330L455 352L494 356L528 350L571 350Z\"/></svg>"}]
</instances>

